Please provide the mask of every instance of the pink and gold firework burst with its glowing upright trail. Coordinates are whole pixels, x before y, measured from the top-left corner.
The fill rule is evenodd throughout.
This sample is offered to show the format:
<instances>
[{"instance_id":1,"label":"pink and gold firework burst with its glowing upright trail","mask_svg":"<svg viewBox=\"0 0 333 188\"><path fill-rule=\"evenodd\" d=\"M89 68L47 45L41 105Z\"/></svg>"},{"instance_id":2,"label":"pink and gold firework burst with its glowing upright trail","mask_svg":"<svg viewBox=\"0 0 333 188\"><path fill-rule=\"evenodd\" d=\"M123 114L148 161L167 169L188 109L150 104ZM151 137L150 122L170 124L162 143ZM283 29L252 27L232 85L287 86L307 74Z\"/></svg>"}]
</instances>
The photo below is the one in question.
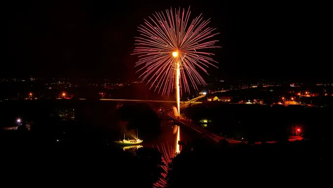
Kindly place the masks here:
<instances>
[{"instance_id":1,"label":"pink and gold firework burst with its glowing upright trail","mask_svg":"<svg viewBox=\"0 0 333 188\"><path fill-rule=\"evenodd\" d=\"M169 95L176 88L178 113L182 89L190 93L190 84L196 90L206 85L197 69L207 73L209 65L216 67L217 63L211 58L214 54L204 50L215 47L217 41L211 39L218 33L201 15L190 21L190 13L190 8L155 12L139 26L138 47L133 53L139 55L136 66L142 66L140 78L150 89Z\"/></svg>"}]
</instances>

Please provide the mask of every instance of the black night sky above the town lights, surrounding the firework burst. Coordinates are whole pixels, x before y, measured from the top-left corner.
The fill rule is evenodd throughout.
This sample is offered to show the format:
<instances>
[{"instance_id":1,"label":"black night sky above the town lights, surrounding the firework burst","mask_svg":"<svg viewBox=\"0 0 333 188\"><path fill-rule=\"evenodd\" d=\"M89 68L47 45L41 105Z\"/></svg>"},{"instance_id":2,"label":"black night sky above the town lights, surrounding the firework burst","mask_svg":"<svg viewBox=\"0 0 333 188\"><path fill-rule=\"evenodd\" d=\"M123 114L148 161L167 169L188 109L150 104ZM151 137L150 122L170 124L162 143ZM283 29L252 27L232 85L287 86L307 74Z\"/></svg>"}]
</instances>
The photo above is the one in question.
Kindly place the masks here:
<instances>
[{"instance_id":1,"label":"black night sky above the town lights, surrounding the firework burst","mask_svg":"<svg viewBox=\"0 0 333 188\"><path fill-rule=\"evenodd\" d=\"M99 77L135 80L137 26L152 12L188 8L203 13L222 48L222 79L331 78L332 21L328 4L290 1L10 1L1 76ZM313 3L313 2L312 2ZM193 17L192 17L193 18ZM237 43L236 43L237 38ZM236 50L237 44L237 50ZM237 52L236 52L237 51Z\"/></svg>"}]
</instances>

